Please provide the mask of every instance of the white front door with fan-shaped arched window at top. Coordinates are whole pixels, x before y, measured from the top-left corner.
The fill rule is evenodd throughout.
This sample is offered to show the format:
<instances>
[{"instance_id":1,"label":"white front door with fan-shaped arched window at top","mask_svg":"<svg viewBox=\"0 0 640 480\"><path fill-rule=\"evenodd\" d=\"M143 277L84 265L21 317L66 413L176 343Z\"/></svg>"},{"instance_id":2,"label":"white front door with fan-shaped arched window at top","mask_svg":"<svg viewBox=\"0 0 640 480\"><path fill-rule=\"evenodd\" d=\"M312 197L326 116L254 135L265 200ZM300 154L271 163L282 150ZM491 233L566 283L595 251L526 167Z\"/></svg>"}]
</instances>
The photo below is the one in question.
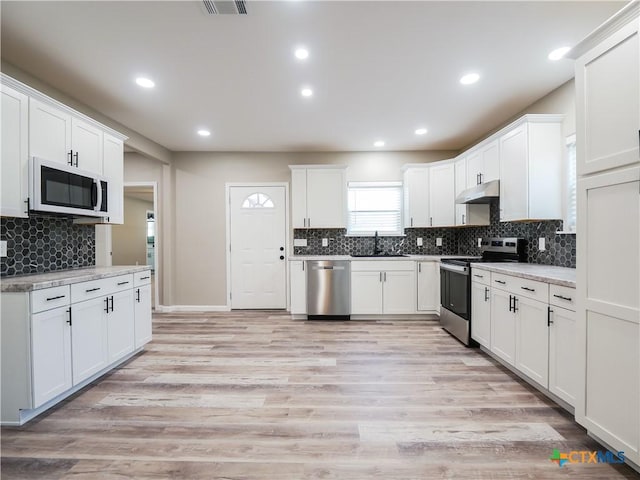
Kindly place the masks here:
<instances>
[{"instance_id":1,"label":"white front door with fan-shaped arched window at top","mask_svg":"<svg viewBox=\"0 0 640 480\"><path fill-rule=\"evenodd\" d=\"M285 187L229 187L231 308L286 308Z\"/></svg>"}]
</instances>

